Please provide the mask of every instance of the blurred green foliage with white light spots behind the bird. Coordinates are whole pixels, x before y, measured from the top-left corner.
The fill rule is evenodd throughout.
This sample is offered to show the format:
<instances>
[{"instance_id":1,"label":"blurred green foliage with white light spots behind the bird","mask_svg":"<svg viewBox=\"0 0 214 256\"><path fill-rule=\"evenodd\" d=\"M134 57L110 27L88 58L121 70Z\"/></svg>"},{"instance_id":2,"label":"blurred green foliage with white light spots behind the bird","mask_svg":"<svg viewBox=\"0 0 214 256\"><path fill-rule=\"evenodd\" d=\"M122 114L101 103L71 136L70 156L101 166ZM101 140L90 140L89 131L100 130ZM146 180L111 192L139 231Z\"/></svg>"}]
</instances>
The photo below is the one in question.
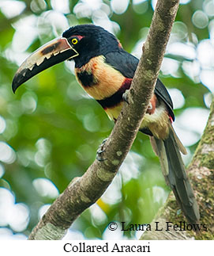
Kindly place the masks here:
<instances>
[{"instance_id":1,"label":"blurred green foliage with white light spots behind the bird","mask_svg":"<svg viewBox=\"0 0 214 256\"><path fill-rule=\"evenodd\" d=\"M113 124L78 86L73 63L60 63L11 90L13 75L40 45L69 26L94 23L140 57L156 1L0 1L0 239L26 239L69 181L81 176ZM160 79L175 104L175 130L190 162L214 90L214 1L182 0ZM157 46L158 47L158 46ZM159 160L138 134L107 192L70 227L66 239L136 239L167 198Z\"/></svg>"}]
</instances>

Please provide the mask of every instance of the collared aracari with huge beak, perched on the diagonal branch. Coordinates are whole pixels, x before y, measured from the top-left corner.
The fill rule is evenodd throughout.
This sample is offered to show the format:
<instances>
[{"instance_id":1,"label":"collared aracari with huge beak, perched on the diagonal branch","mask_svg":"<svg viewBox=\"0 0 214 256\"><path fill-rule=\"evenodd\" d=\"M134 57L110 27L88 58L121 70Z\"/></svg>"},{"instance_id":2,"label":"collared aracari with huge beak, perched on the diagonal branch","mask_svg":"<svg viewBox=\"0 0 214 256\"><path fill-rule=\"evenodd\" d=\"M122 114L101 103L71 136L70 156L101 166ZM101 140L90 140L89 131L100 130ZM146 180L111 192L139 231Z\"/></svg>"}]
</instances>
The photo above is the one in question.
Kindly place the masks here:
<instances>
[{"instance_id":1,"label":"collared aracari with huge beak, perched on the diagonal branch","mask_svg":"<svg viewBox=\"0 0 214 256\"><path fill-rule=\"evenodd\" d=\"M74 61L77 82L103 107L107 116L116 121L139 59L126 52L115 35L97 25L70 27L61 37L29 55L14 75L13 92L39 72L65 60ZM174 120L170 94L157 78L139 131L150 137L165 181L186 220L189 224L198 224L199 208L181 156L181 153L186 155L186 148L172 127Z\"/></svg>"}]
</instances>

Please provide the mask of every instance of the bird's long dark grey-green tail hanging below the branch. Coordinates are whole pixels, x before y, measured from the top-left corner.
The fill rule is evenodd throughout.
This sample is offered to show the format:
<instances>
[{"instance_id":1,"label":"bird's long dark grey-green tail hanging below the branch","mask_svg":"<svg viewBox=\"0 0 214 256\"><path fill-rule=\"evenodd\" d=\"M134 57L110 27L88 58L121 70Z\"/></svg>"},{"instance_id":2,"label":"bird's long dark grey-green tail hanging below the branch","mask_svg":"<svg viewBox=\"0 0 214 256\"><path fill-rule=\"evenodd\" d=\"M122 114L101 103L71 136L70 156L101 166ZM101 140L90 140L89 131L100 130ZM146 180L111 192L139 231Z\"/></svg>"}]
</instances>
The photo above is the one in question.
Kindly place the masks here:
<instances>
[{"instance_id":1,"label":"bird's long dark grey-green tail hanging below the branch","mask_svg":"<svg viewBox=\"0 0 214 256\"><path fill-rule=\"evenodd\" d=\"M171 124L167 139L162 140L152 136L151 143L153 150L160 158L161 169L167 185L173 190L186 219L190 224L198 224L200 213L197 201L180 154L181 151L186 155L186 148L178 139Z\"/></svg>"}]
</instances>

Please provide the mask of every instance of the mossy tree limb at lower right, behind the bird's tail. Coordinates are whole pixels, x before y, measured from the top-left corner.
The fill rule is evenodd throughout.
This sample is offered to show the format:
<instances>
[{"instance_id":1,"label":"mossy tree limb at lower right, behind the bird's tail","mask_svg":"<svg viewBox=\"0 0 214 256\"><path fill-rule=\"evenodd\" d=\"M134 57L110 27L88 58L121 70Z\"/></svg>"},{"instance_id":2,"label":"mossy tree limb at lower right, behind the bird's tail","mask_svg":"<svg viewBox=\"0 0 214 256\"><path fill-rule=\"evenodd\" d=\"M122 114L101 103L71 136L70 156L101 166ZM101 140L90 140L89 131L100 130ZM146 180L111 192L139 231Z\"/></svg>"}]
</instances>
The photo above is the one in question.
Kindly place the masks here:
<instances>
[{"instance_id":1,"label":"mossy tree limb at lower right, behind the bird's tail","mask_svg":"<svg viewBox=\"0 0 214 256\"><path fill-rule=\"evenodd\" d=\"M197 233L193 231L175 231L173 229L166 231L165 227L168 221L173 222L173 224L183 222L182 213L178 215L176 200L171 193L166 204L160 209L155 220L152 221L152 231L146 231L141 239L214 239L214 97L205 132L187 172L190 174L191 184L200 208L201 231ZM159 227L163 227L163 231L156 231L156 222L160 223ZM182 229L184 229L183 223Z\"/></svg>"}]
</instances>

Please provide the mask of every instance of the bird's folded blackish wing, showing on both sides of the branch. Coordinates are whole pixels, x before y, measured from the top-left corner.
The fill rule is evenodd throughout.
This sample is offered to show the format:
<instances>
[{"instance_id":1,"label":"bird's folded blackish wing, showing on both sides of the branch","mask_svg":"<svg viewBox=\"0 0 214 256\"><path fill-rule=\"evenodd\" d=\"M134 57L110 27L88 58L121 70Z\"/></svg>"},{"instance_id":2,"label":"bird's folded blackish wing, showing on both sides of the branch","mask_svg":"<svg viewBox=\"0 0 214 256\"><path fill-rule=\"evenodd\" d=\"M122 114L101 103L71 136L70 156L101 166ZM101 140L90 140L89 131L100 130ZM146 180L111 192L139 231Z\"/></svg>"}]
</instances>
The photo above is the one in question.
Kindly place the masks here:
<instances>
[{"instance_id":1,"label":"bird's folded blackish wing, showing on both sides of the branch","mask_svg":"<svg viewBox=\"0 0 214 256\"><path fill-rule=\"evenodd\" d=\"M115 67L115 69L120 71L126 78L133 78L139 59L123 49L118 52L109 52L105 55L105 58L106 63L110 64L112 67ZM171 97L159 78L156 82L155 94L166 103L171 118L175 120Z\"/></svg>"}]
</instances>

